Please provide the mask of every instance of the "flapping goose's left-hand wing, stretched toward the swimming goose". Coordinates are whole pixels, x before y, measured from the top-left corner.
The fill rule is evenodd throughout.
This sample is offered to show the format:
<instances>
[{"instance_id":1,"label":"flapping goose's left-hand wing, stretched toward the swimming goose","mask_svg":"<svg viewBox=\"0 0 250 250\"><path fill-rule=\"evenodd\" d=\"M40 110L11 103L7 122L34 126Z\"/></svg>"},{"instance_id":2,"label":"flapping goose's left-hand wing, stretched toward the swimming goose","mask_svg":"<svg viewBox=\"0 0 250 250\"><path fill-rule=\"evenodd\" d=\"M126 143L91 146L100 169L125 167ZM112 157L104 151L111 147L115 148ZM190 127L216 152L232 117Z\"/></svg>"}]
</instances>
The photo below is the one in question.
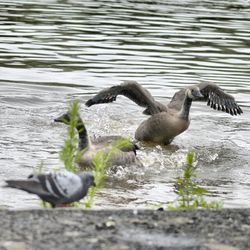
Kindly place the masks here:
<instances>
[{"instance_id":1,"label":"flapping goose's left-hand wing, stretched toward the swimming goose","mask_svg":"<svg viewBox=\"0 0 250 250\"><path fill-rule=\"evenodd\" d=\"M93 98L89 99L85 104L90 107L99 103L113 102L118 95L124 95L139 106L145 107L146 110L144 110L144 114L152 115L161 111L166 111L166 107L156 102L149 91L136 81L124 81L120 85L104 89Z\"/></svg>"}]
</instances>

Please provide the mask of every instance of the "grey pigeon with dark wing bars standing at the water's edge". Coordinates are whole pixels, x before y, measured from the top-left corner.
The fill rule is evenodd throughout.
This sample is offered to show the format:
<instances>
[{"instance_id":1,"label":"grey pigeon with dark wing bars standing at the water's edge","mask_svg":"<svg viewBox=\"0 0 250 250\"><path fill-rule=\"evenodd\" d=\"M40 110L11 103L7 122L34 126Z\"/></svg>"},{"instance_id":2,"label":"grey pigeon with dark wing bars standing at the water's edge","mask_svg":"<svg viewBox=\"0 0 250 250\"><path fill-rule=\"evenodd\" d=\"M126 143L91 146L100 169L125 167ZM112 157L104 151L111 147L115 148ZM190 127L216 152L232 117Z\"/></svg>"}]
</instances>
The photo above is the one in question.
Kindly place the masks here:
<instances>
[{"instance_id":1,"label":"grey pigeon with dark wing bars standing at the water's edge","mask_svg":"<svg viewBox=\"0 0 250 250\"><path fill-rule=\"evenodd\" d=\"M48 174L31 174L27 179L6 180L6 186L38 195L51 206L59 207L81 200L91 186L95 186L94 176L90 172L77 174L61 171Z\"/></svg>"}]
</instances>

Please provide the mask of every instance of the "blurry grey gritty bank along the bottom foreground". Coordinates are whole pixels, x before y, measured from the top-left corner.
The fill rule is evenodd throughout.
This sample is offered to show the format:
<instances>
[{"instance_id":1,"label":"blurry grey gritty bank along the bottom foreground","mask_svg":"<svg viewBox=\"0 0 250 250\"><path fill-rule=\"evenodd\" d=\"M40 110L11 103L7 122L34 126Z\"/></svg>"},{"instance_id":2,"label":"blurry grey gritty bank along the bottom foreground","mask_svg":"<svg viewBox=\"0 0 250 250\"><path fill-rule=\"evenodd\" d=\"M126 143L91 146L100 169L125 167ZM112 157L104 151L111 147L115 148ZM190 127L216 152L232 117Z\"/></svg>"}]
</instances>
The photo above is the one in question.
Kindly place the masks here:
<instances>
[{"instance_id":1,"label":"blurry grey gritty bank along the bottom foreground","mask_svg":"<svg viewBox=\"0 0 250 250\"><path fill-rule=\"evenodd\" d=\"M250 249L250 209L0 210L0 249Z\"/></svg>"}]
</instances>

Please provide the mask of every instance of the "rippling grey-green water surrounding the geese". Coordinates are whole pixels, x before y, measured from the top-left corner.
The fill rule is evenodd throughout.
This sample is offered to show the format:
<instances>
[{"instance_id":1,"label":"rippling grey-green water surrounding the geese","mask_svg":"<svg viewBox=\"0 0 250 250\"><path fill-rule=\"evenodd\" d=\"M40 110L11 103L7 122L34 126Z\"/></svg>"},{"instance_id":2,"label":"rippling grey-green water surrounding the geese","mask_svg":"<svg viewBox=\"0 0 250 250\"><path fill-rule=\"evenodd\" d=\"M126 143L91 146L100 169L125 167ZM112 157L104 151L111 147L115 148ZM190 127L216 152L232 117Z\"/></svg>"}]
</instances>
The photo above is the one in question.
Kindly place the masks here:
<instances>
[{"instance_id":1,"label":"rippling grey-green water surrounding the geese","mask_svg":"<svg viewBox=\"0 0 250 250\"><path fill-rule=\"evenodd\" d=\"M109 173L96 207L146 207L175 198L185 155L197 153L197 178L225 207L249 207L249 1L18 1L0 3L0 185L43 161L62 166L66 127L53 119L80 100L91 135L133 137L146 117L130 100L86 108L94 93L137 80L167 103L175 91L211 80L244 114L194 103L192 122L166 148L141 145L144 169ZM119 114L119 115L117 115ZM38 207L36 196L0 188L0 206Z\"/></svg>"}]
</instances>

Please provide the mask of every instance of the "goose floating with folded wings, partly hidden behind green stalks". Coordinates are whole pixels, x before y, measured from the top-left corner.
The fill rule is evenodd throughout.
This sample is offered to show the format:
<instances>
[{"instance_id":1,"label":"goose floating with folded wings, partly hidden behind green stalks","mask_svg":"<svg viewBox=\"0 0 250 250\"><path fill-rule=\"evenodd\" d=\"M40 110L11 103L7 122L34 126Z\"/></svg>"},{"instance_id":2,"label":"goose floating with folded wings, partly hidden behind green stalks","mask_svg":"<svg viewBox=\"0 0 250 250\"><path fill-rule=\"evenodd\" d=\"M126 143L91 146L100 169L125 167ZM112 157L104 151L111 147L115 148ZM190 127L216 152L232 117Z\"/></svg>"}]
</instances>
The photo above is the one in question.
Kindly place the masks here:
<instances>
[{"instance_id":1,"label":"goose floating with folded wings, partly hidden behind green stalks","mask_svg":"<svg viewBox=\"0 0 250 250\"><path fill-rule=\"evenodd\" d=\"M61 122L69 124L71 121L71 114L69 112L61 115L54 120L55 122ZM79 150L83 152L78 164L81 168L93 168L93 159L100 151L105 153L105 156L109 157L108 166L111 165L130 165L135 164L141 166L141 162L136 157L136 150L138 146L131 141L125 143L119 149L114 151L114 144L119 140L126 140L126 138L118 135L100 136L90 139L87 133L87 129L83 123L82 118L77 114L77 127L79 134Z\"/></svg>"}]
</instances>

